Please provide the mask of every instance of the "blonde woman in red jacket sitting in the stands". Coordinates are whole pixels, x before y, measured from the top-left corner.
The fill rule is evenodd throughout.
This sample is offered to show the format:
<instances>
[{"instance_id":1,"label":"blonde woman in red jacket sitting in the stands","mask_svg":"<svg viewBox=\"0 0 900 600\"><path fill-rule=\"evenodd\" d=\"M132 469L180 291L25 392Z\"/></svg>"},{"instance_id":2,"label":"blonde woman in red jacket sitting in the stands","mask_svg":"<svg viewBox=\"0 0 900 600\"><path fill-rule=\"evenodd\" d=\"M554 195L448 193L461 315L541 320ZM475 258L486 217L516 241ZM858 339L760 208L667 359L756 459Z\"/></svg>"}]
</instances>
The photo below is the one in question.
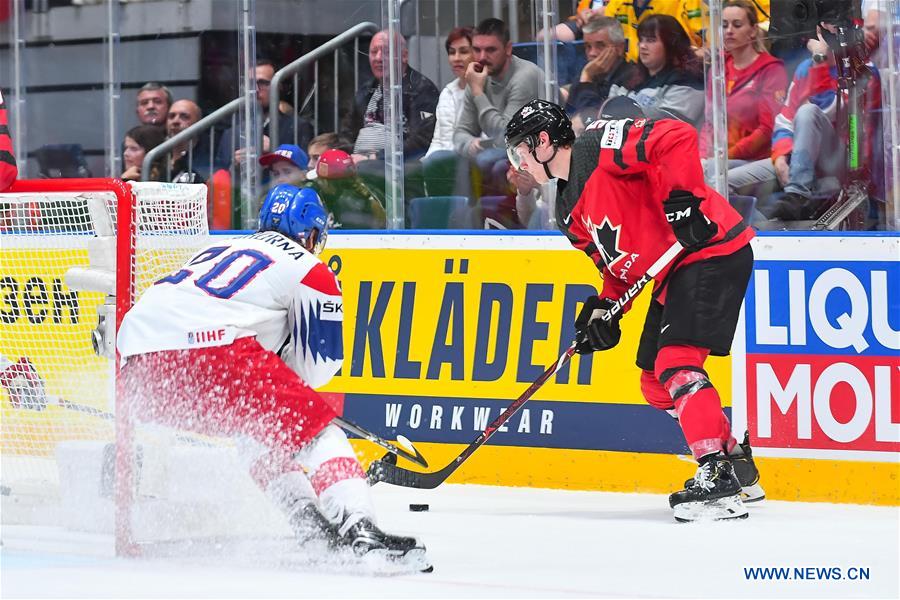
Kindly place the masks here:
<instances>
[{"instance_id":1,"label":"blonde woman in red jacket sitting in the stands","mask_svg":"<svg viewBox=\"0 0 900 600\"><path fill-rule=\"evenodd\" d=\"M722 8L725 38L725 112L728 118L728 168L766 158L772 127L787 89L781 60L765 51L756 7L751 0L728 0ZM708 88L711 93L711 87ZM707 95L700 156L712 147L712 102ZM704 161L708 167L708 160Z\"/></svg>"}]
</instances>

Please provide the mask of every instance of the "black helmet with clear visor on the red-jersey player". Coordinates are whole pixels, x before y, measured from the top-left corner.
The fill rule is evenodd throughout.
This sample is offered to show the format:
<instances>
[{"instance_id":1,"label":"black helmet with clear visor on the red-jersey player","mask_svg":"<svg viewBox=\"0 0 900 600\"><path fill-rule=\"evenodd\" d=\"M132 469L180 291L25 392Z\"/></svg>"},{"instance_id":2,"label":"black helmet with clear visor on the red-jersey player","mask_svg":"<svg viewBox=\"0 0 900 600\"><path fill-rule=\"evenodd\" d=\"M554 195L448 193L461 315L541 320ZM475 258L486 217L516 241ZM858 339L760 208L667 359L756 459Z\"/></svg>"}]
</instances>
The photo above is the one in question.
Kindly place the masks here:
<instances>
[{"instance_id":1,"label":"black helmet with clear visor on the red-jersey player","mask_svg":"<svg viewBox=\"0 0 900 600\"><path fill-rule=\"evenodd\" d=\"M546 161L538 160L534 156L534 149L538 145L538 134L546 131L553 144L553 156ZM560 146L569 145L575 141L575 132L572 130L572 121L566 111L558 104L547 102L546 100L532 100L516 113L506 124L506 153L509 160L516 168L519 168L520 160L515 149L519 144L528 145L534 159L544 165L547 171L547 177L552 178L550 170L547 167L556 156L556 150Z\"/></svg>"}]
</instances>

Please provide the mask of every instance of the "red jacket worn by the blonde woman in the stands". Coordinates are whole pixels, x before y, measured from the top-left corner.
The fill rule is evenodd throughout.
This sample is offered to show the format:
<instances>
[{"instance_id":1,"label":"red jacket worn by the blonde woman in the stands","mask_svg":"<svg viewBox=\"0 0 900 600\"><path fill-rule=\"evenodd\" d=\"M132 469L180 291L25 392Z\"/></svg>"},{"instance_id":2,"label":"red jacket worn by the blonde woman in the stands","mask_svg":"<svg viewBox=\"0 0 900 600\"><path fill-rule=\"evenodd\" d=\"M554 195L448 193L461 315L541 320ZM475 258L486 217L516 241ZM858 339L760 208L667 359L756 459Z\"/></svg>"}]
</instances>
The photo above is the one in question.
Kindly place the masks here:
<instances>
[{"instance_id":1,"label":"red jacket worn by the blonde woman in the stands","mask_svg":"<svg viewBox=\"0 0 900 600\"><path fill-rule=\"evenodd\" d=\"M711 88L707 88L711 90ZM762 52L743 69L725 57L725 112L728 119L728 158L768 158L772 126L787 90L784 63ZM712 100L706 95L706 123L700 136L700 156L712 147Z\"/></svg>"}]
</instances>

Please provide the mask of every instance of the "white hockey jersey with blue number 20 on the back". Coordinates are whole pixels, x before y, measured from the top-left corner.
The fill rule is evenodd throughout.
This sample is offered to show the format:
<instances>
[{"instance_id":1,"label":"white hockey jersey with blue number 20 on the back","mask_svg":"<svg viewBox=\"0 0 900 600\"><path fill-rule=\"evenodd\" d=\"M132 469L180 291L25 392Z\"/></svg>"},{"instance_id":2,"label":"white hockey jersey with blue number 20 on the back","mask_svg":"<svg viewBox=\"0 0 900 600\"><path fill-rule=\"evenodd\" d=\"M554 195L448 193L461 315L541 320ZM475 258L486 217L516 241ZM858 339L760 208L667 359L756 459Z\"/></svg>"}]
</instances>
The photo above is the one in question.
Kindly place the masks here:
<instances>
[{"instance_id":1,"label":"white hockey jersey with blue number 20 on the back","mask_svg":"<svg viewBox=\"0 0 900 600\"><path fill-rule=\"evenodd\" d=\"M256 336L317 388L341 367L342 329L331 270L300 244L262 231L213 243L150 286L125 315L116 346L127 358Z\"/></svg>"}]
</instances>

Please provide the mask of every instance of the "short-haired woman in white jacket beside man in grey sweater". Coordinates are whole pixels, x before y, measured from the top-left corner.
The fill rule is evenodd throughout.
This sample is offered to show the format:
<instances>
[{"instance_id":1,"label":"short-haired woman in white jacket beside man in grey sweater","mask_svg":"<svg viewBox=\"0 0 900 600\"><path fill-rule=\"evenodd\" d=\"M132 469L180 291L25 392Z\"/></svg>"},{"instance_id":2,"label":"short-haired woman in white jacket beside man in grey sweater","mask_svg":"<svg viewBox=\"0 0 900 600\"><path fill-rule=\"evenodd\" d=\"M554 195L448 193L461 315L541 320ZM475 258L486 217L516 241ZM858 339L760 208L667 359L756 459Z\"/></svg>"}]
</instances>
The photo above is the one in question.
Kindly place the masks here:
<instances>
[{"instance_id":1,"label":"short-haired woman in white jacket beside man in grey sweater","mask_svg":"<svg viewBox=\"0 0 900 600\"><path fill-rule=\"evenodd\" d=\"M429 196L452 195L455 191L459 157L453 149L453 133L466 97L466 69L475 59L472 31L471 27L457 27L444 41L447 60L456 78L441 90L434 136L422 157L424 187Z\"/></svg>"}]
</instances>

